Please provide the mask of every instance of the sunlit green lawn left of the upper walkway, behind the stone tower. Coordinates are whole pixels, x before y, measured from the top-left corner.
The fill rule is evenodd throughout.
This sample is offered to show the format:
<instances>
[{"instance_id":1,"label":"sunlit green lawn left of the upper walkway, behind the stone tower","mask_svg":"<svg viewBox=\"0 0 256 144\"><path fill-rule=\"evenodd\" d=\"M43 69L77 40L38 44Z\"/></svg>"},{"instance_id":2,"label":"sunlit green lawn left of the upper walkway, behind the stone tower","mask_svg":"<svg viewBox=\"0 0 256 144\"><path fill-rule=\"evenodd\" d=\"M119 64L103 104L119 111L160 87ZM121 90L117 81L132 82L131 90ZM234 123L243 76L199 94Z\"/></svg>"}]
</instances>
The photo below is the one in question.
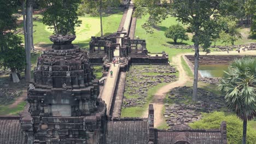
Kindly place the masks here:
<instances>
[{"instance_id":1,"label":"sunlit green lawn left of the upper walkway, behind the stone tower","mask_svg":"<svg viewBox=\"0 0 256 144\"><path fill-rule=\"evenodd\" d=\"M113 14L103 15L103 34L108 35L117 32L122 16L122 10L114 10ZM34 44L43 47L51 45L52 42L49 40L49 36L53 34L53 29L49 29L48 26L43 24L42 15L33 15L33 17L39 18L38 21L33 21ZM82 24L80 27L75 27L77 38L74 40L74 44L79 45L81 48L88 48L91 36L100 36L101 34L100 17L79 16L79 20L82 20ZM23 24L19 27L22 28ZM20 36L24 41L24 35L20 34Z\"/></svg>"}]
</instances>

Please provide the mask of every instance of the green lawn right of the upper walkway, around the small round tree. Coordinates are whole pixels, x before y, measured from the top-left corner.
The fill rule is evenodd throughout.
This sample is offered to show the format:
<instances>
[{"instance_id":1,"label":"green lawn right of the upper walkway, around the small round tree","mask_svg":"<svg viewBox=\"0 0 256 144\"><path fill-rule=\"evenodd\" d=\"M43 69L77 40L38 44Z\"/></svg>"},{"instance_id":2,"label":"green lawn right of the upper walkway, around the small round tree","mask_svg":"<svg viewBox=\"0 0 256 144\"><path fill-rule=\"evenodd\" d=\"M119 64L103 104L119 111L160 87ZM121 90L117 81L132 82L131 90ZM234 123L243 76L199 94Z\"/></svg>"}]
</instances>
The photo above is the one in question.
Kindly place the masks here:
<instances>
[{"instance_id":1,"label":"green lawn right of the upper walkway, around the small round tree","mask_svg":"<svg viewBox=\"0 0 256 144\"><path fill-rule=\"evenodd\" d=\"M172 39L168 39L165 37L165 31L168 27L173 24L178 23L175 17L168 17L166 20L162 21L159 25L154 28L153 34L147 34L146 31L141 27L144 22L148 19L149 15L142 17L141 19L137 19L135 37L138 36L139 39L146 39L147 49L149 52L162 52L165 51L169 55L169 60L171 62L171 57L176 56L178 53L188 53L193 49L170 49L168 46L173 44ZM242 39L237 40L235 45L238 44L247 44L247 43L256 43L256 38L249 35L248 28L240 28L240 32L242 33ZM191 41L192 35L189 34L189 40L183 41L185 45L193 45ZM180 42L180 41L178 41ZM216 45L225 45L220 41L217 41ZM211 49L213 50L213 49Z\"/></svg>"}]
</instances>

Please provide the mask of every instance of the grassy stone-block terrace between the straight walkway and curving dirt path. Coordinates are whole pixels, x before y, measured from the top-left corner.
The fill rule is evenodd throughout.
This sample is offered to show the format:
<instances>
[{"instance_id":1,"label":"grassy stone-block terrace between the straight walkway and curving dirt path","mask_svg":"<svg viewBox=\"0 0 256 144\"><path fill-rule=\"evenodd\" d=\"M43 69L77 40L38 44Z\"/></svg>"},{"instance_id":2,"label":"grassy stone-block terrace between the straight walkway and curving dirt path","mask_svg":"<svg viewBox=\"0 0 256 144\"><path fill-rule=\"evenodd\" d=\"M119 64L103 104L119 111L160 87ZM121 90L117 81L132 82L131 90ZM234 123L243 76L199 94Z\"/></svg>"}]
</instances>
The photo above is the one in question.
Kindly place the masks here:
<instances>
[{"instance_id":1,"label":"grassy stone-block terrace between the straight walkway and curving dirt path","mask_svg":"<svg viewBox=\"0 0 256 144\"><path fill-rule=\"evenodd\" d=\"M159 83L176 80L176 69L171 65L134 65L127 72L123 107L146 104L148 89Z\"/></svg>"}]
</instances>

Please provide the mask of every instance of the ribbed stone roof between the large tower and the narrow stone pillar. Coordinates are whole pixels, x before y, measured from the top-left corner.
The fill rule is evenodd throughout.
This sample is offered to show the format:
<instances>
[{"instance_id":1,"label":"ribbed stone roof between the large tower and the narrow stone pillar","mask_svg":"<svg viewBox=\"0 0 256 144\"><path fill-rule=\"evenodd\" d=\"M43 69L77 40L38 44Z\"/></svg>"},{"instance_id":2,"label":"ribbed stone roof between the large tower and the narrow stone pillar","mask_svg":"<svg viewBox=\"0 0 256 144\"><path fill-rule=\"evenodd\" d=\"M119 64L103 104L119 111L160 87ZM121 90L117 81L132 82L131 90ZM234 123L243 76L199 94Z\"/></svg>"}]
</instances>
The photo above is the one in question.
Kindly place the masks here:
<instances>
[{"instance_id":1,"label":"ribbed stone roof between the large tower and the narrow stone pillar","mask_svg":"<svg viewBox=\"0 0 256 144\"><path fill-rule=\"evenodd\" d=\"M148 143L147 121L110 121L107 125L107 144Z\"/></svg>"}]
</instances>

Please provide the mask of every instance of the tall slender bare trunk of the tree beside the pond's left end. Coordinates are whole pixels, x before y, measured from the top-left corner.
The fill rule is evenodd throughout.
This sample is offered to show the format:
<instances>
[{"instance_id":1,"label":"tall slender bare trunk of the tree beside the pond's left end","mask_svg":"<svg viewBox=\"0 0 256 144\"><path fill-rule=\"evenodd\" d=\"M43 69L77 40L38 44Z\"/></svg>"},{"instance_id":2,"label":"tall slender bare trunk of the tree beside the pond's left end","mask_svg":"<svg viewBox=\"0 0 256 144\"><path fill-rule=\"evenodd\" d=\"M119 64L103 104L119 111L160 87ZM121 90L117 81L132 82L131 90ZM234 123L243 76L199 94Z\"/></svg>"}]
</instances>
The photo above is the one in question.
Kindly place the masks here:
<instances>
[{"instance_id":1,"label":"tall slender bare trunk of the tree beside the pond's left end","mask_svg":"<svg viewBox=\"0 0 256 144\"><path fill-rule=\"evenodd\" d=\"M197 78L199 68L199 44L195 45L195 62L194 62L194 83L193 83L193 101L197 101Z\"/></svg>"}]
</instances>

